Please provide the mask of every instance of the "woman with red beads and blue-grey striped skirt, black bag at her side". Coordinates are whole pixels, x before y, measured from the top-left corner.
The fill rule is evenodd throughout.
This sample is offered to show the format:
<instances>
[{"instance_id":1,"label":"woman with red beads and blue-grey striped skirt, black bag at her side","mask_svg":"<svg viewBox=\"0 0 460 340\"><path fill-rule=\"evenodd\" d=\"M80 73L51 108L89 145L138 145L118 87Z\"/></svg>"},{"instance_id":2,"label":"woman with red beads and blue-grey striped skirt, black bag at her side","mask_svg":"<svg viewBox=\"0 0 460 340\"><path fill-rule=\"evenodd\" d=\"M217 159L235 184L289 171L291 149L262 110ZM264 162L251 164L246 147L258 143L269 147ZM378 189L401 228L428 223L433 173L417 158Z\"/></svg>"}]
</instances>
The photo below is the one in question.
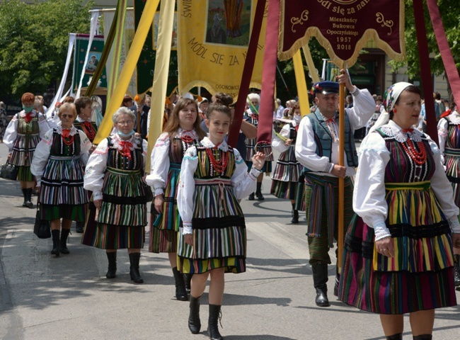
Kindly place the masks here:
<instances>
[{"instance_id":1,"label":"woman with red beads and blue-grey striped skirt, black bag at her side","mask_svg":"<svg viewBox=\"0 0 460 340\"><path fill-rule=\"evenodd\" d=\"M84 221L88 197L83 189L84 164L81 155L91 148L88 137L76 130L73 103L59 108L61 125L49 130L38 143L31 171L37 177L40 214L51 221L51 254L69 254L67 237L72 221ZM61 232L62 218L62 232Z\"/></svg>"}]
</instances>

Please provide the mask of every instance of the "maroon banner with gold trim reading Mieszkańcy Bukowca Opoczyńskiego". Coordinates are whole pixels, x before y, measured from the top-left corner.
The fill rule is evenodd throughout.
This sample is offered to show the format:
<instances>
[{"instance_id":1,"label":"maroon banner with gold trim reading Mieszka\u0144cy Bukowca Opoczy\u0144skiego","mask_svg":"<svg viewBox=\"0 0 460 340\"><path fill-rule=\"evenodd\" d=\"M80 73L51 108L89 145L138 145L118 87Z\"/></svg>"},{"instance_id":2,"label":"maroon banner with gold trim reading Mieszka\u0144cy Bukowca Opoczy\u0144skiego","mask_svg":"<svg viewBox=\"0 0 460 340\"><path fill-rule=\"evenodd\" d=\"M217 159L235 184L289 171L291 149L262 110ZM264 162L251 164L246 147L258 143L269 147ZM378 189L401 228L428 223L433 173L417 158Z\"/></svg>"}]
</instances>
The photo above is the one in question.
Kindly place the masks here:
<instances>
[{"instance_id":1,"label":"maroon banner with gold trim reading Mieszka\u0144cy Bukowca Opoczy\u0144skiego","mask_svg":"<svg viewBox=\"0 0 460 340\"><path fill-rule=\"evenodd\" d=\"M403 0L282 0L280 32L280 60L292 58L311 37L347 67L370 38L392 59L406 55Z\"/></svg>"}]
</instances>

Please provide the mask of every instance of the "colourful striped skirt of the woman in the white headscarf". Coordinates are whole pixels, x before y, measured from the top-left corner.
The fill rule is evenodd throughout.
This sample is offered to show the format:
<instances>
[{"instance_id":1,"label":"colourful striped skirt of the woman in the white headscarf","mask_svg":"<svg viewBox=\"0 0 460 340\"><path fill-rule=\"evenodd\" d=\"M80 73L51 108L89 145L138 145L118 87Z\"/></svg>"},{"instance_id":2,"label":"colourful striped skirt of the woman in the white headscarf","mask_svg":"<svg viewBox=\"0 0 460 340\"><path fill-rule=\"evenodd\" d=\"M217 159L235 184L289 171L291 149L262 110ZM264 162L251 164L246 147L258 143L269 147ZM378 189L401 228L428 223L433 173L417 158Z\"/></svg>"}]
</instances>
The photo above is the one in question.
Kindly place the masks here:
<instances>
[{"instance_id":1,"label":"colourful striped skirt of the woman in the white headscarf","mask_svg":"<svg viewBox=\"0 0 460 340\"><path fill-rule=\"evenodd\" d=\"M374 229L353 217L345 237L340 300L379 314L456 305L452 234L429 184L424 185L386 186L392 259L377 253Z\"/></svg>"}]
</instances>

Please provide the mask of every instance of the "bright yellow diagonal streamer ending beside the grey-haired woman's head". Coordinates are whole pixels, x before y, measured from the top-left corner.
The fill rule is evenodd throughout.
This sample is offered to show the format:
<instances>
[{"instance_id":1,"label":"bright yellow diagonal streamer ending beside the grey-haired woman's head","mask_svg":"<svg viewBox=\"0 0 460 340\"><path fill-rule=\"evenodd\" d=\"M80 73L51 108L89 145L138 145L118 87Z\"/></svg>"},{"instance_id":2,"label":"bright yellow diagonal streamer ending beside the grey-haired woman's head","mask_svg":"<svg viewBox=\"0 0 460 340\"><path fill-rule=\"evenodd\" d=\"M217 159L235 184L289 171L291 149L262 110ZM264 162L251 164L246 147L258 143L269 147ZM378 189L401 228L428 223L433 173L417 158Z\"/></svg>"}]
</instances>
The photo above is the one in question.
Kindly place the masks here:
<instances>
[{"instance_id":1,"label":"bright yellow diagonal streamer ending beside the grey-haired woman's head","mask_svg":"<svg viewBox=\"0 0 460 340\"><path fill-rule=\"evenodd\" d=\"M156 8L158 8L160 0L147 0L144 12L142 12L141 20L139 21L139 26L137 27L136 34L132 40L132 45L130 52L126 57L126 62L123 65L122 72L120 72L120 77L118 78L117 85L113 91L112 98L108 103L107 108L105 109L104 119L100 123L98 129L98 134L94 139L94 144L98 144L101 140L108 137L113 128L112 116L117 108L120 108L120 105L125 96L126 90L130 85L130 80L134 69L136 69L137 60L141 55L142 47L144 47L144 42L147 37L147 33L151 29L151 23L154 21L154 14ZM165 1L169 2L169 1Z\"/></svg>"}]
</instances>

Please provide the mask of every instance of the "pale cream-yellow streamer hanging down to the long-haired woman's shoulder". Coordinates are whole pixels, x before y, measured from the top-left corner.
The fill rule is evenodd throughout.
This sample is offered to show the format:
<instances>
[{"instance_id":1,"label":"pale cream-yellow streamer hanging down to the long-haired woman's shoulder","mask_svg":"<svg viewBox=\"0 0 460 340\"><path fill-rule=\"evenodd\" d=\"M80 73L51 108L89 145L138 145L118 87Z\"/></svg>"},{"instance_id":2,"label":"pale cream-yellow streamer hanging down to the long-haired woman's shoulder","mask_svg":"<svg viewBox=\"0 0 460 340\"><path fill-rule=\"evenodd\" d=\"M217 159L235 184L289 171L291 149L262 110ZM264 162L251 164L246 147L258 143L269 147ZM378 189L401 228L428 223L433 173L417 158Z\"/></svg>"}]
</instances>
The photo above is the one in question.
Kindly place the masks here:
<instances>
[{"instance_id":1,"label":"pale cream-yellow streamer hanging down to the long-haired woman's shoulder","mask_svg":"<svg viewBox=\"0 0 460 340\"><path fill-rule=\"evenodd\" d=\"M168 87L168 65L173 40L174 5L176 1L161 1L158 40L156 47L154 85L151 90L149 147L145 169L150 169L150 154L163 130L163 114Z\"/></svg>"}]
</instances>

